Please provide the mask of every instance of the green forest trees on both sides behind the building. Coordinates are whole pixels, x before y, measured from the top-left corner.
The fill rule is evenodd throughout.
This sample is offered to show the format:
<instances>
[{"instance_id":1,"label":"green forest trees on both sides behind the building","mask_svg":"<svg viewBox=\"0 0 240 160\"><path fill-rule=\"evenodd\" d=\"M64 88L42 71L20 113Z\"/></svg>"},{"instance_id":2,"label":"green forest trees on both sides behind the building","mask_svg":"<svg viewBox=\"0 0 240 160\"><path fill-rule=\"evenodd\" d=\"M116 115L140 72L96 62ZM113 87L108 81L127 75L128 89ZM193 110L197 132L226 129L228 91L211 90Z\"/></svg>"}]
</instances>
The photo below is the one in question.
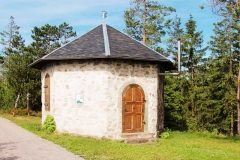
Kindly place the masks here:
<instances>
[{"instance_id":1,"label":"green forest trees on both sides behind the building","mask_svg":"<svg viewBox=\"0 0 240 160\"><path fill-rule=\"evenodd\" d=\"M212 14L219 18L207 43L203 32L197 29L194 15L190 14L182 24L181 17L173 16L177 9L158 1L131 1L123 13L123 32L173 62L177 41L181 40L182 72L176 77L165 77L166 128L236 135L240 121L237 98L240 2L208 2ZM29 100L32 110L41 110L40 71L27 66L72 40L76 32L66 22L35 26L26 45L14 17L10 17L6 26L0 32L0 109L26 108Z\"/></svg>"}]
</instances>

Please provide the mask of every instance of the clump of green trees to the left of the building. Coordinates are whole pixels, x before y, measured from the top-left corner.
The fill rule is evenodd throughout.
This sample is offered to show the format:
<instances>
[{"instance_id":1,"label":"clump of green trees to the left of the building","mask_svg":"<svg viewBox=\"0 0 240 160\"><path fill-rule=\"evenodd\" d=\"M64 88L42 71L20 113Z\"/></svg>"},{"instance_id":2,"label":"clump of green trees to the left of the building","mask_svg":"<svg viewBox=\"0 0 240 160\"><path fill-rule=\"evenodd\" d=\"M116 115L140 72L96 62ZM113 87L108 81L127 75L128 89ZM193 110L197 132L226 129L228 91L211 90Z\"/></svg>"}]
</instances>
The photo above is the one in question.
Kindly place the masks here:
<instances>
[{"instance_id":1,"label":"clump of green trees to the left of the building","mask_svg":"<svg viewBox=\"0 0 240 160\"><path fill-rule=\"evenodd\" d=\"M60 47L61 43L67 43L70 38L76 36L72 27L67 23L57 26L46 24L32 30L33 43L25 46L24 40L18 32L13 17L10 18L9 32L1 32L2 41L5 45L5 55L0 57L0 63L4 63L6 81L0 83L0 108L6 109L26 107L27 94L31 94L30 108L41 109L41 76L40 71L29 68L39 57L50 53ZM62 39L62 42L60 42ZM7 57L9 61L6 61ZM15 102L14 102L15 99Z\"/></svg>"}]
</instances>

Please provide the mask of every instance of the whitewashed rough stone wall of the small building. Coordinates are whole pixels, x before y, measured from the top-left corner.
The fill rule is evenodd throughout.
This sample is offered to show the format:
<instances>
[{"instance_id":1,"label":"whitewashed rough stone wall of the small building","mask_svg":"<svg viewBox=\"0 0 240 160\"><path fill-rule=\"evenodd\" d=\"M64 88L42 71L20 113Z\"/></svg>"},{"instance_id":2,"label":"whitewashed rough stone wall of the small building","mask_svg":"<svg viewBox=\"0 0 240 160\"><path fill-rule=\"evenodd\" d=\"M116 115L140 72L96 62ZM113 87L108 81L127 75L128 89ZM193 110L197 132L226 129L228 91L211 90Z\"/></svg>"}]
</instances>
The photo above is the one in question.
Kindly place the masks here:
<instances>
[{"instance_id":1,"label":"whitewashed rough stone wall of the small building","mask_svg":"<svg viewBox=\"0 0 240 160\"><path fill-rule=\"evenodd\" d=\"M122 133L122 93L129 84L145 92L144 132L157 133L159 125L159 66L128 60L79 60L52 62L42 68L42 91L48 73L51 83L51 108L57 130L94 137L119 139ZM76 96L83 103L76 103ZM42 93L44 102L44 93ZM163 125L163 122L160 122Z\"/></svg>"}]
</instances>

